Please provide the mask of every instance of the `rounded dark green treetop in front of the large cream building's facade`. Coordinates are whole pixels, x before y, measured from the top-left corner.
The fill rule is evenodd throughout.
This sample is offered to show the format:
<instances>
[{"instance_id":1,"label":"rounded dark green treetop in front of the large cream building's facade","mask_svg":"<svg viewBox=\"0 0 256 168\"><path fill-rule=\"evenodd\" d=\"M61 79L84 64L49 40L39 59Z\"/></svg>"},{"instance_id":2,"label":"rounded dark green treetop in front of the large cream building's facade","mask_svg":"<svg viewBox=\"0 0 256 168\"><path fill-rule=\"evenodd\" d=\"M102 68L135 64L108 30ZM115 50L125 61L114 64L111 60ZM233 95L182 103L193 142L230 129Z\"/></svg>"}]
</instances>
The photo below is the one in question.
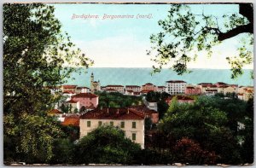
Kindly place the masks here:
<instances>
[{"instance_id":1,"label":"rounded dark green treetop in front of the large cream building's facade","mask_svg":"<svg viewBox=\"0 0 256 168\"><path fill-rule=\"evenodd\" d=\"M140 146L125 137L123 130L102 125L79 140L76 158L79 164L131 164Z\"/></svg>"}]
</instances>

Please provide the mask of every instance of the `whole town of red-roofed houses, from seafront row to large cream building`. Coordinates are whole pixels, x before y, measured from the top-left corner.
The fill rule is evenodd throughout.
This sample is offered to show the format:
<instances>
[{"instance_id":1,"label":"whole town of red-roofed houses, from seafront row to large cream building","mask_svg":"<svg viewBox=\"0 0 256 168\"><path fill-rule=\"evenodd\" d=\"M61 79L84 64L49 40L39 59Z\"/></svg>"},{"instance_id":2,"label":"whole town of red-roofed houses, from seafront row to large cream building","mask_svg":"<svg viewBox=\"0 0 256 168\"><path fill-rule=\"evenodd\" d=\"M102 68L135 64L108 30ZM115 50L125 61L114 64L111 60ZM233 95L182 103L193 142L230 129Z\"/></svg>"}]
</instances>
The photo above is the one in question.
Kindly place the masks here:
<instances>
[{"instance_id":1,"label":"whole town of red-roofed houses, from seafront row to large cream building","mask_svg":"<svg viewBox=\"0 0 256 168\"><path fill-rule=\"evenodd\" d=\"M137 142L144 148L144 119L149 118L154 124L158 123L159 114L157 112L156 102L147 102L137 107L106 107L99 108L99 96L96 91L106 91L108 93L119 92L129 96L142 96L149 91L166 92L171 96L166 99L166 103L172 101L173 96L177 97L179 102L193 102L189 95L207 95L212 96L216 93L236 93L238 98L247 101L253 95L252 86L238 86L237 84L225 84L218 82L187 84L183 80L166 81L166 86L156 86L154 84L137 85L107 85L101 86L100 81L94 81L93 73L90 76L90 88L79 87L77 85L62 85L58 88L50 88L51 92L61 92L67 96L67 105L73 112L75 109L84 108L84 113L71 114L61 113L60 107L49 112L49 115L55 115L60 119L61 125L73 125L79 127L80 137L86 136L90 131L98 126L108 124L119 126L125 131L125 136L133 142Z\"/></svg>"}]
</instances>

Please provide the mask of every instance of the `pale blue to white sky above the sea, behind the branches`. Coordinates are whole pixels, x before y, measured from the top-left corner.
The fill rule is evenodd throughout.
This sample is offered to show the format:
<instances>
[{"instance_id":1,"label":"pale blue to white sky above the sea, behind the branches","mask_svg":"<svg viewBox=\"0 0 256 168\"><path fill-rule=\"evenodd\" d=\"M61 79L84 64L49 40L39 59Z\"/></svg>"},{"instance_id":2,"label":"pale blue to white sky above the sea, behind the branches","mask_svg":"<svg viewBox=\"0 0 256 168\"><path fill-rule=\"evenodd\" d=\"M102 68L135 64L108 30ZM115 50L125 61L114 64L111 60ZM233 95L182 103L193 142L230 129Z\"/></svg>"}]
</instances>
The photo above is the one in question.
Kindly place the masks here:
<instances>
[{"instance_id":1,"label":"pale blue to white sky above the sea, behind the branches","mask_svg":"<svg viewBox=\"0 0 256 168\"><path fill-rule=\"evenodd\" d=\"M151 46L149 37L161 31L158 20L166 18L170 4L59 3L54 6L55 17L61 21L62 31L67 32L73 43L95 62L93 67L154 65L150 60L152 57L147 55L147 49ZM223 14L238 13L236 4L194 4L190 7L195 14L203 11L218 18ZM77 18L83 14L98 17ZM134 18L111 20L104 19L105 14L134 15ZM207 58L206 52L198 53L197 61L189 63L189 68L229 69L225 57L237 54L238 38L230 38L214 47L211 58ZM253 64L245 68L253 69Z\"/></svg>"}]
</instances>

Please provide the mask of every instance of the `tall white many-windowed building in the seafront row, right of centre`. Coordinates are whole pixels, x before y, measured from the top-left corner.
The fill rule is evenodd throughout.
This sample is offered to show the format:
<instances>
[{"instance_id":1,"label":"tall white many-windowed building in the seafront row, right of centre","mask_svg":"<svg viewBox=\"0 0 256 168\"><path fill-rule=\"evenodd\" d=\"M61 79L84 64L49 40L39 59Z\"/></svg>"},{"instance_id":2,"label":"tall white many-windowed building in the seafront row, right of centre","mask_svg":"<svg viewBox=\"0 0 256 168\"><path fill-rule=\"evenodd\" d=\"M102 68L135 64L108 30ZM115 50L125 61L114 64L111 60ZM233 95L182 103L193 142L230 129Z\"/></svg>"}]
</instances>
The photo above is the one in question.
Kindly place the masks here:
<instances>
[{"instance_id":1,"label":"tall white many-windowed building in the seafront row, right of centre","mask_svg":"<svg viewBox=\"0 0 256 168\"><path fill-rule=\"evenodd\" d=\"M171 95L184 94L187 83L183 80L166 81L166 92Z\"/></svg>"}]
</instances>

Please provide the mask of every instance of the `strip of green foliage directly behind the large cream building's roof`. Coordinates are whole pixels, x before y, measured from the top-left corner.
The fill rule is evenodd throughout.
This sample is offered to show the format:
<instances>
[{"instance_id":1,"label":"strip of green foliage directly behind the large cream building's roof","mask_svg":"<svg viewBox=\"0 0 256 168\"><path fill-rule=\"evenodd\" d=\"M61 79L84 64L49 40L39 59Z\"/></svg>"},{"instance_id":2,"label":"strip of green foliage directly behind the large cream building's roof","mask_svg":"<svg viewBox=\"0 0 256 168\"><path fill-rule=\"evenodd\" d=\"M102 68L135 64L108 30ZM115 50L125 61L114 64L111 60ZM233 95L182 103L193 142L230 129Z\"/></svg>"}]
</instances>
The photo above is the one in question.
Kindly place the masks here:
<instances>
[{"instance_id":1,"label":"strip of green foliage directly behind the large cream building's roof","mask_svg":"<svg viewBox=\"0 0 256 168\"><path fill-rule=\"evenodd\" d=\"M125 96L121 93L96 92L99 98L98 107L131 107L142 104L141 96Z\"/></svg>"}]
</instances>

